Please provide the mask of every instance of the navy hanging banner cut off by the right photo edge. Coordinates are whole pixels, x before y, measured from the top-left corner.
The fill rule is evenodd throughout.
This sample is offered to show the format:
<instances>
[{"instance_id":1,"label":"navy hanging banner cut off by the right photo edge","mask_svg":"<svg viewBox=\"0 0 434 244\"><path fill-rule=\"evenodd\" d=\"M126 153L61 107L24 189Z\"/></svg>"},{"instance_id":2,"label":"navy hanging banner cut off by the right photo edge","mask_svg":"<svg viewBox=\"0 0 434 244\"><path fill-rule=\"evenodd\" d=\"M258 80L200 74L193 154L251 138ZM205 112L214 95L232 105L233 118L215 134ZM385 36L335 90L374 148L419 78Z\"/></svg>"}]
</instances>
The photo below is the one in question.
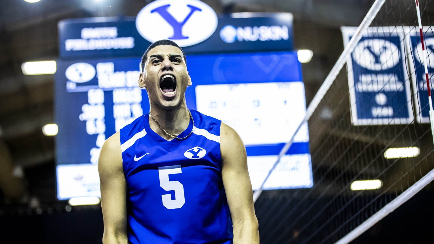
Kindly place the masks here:
<instances>
[{"instance_id":1,"label":"navy hanging banner cut off by the right photo edge","mask_svg":"<svg viewBox=\"0 0 434 244\"><path fill-rule=\"evenodd\" d=\"M423 63L424 56L422 54L422 43L419 28L413 29L408 35L407 41L410 54L410 73L412 75L413 92L416 104L416 119L419 123L429 123L429 105L428 105L428 89L427 78ZM433 94L432 78L434 73L434 34L427 31L428 27L424 28L425 39L425 55L427 56L428 79L430 80L431 94Z\"/></svg>"}]
</instances>

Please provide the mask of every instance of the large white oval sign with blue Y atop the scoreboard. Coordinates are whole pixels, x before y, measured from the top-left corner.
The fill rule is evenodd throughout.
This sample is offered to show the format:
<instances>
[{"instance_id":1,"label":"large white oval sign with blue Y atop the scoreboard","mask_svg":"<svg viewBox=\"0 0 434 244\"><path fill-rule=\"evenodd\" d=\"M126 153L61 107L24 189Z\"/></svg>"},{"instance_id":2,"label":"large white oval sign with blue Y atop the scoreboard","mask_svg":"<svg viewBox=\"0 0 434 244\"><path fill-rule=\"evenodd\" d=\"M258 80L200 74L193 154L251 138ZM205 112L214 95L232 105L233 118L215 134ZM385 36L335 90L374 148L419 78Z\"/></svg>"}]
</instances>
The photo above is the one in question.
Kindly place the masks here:
<instances>
[{"instance_id":1,"label":"large white oval sign with blue Y atop the scoreboard","mask_svg":"<svg viewBox=\"0 0 434 244\"><path fill-rule=\"evenodd\" d=\"M214 10L199 0L157 0L136 17L136 28L143 38L151 43L168 39L181 47L207 40L217 23Z\"/></svg>"}]
</instances>

